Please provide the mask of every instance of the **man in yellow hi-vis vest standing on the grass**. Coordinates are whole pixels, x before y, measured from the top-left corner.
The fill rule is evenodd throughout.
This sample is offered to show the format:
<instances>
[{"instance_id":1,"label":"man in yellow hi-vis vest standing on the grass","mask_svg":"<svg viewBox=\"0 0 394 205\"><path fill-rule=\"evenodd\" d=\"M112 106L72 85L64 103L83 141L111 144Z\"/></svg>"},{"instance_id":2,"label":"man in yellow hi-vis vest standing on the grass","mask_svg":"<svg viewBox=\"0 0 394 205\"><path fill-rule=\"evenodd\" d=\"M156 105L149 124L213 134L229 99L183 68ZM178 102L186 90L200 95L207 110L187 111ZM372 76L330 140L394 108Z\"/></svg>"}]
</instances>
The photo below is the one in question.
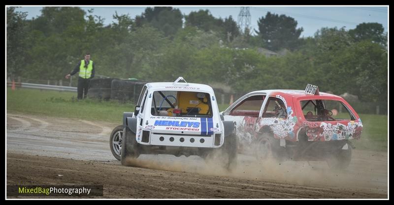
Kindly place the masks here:
<instances>
[{"instance_id":1,"label":"man in yellow hi-vis vest standing on the grass","mask_svg":"<svg viewBox=\"0 0 394 205\"><path fill-rule=\"evenodd\" d=\"M78 99L82 99L82 96L86 98L89 89L90 79L95 77L95 63L90 60L90 53L85 54L85 59L78 62L74 70L66 75L66 79L75 73L79 72L78 78Z\"/></svg>"}]
</instances>

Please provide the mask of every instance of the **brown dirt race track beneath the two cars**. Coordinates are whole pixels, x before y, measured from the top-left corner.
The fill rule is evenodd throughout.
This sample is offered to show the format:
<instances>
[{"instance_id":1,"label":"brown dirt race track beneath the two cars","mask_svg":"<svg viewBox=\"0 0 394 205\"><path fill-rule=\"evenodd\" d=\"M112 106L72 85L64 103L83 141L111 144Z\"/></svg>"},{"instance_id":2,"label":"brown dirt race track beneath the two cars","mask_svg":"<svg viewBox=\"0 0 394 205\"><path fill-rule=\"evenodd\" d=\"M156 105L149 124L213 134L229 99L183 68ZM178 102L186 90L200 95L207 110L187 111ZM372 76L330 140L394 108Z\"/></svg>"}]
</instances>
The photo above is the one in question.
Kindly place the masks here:
<instances>
[{"instance_id":1,"label":"brown dirt race track beneath the two cars","mask_svg":"<svg viewBox=\"0 0 394 205\"><path fill-rule=\"evenodd\" d=\"M342 172L245 155L233 173L196 156L141 155L125 167L109 150L116 125L8 113L7 185L103 185L103 198L388 197L387 152L356 149Z\"/></svg>"}]
</instances>

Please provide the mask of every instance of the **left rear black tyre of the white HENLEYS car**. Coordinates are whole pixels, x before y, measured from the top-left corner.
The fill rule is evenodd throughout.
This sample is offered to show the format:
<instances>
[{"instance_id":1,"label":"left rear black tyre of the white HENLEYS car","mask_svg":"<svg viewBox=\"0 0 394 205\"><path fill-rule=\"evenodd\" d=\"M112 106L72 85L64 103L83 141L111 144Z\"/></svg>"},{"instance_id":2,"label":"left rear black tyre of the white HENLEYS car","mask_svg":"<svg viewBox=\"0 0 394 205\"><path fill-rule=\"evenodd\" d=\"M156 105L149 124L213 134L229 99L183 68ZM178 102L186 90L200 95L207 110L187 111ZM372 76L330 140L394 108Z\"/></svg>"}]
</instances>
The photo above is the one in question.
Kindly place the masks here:
<instances>
[{"instance_id":1,"label":"left rear black tyre of the white HENLEYS car","mask_svg":"<svg viewBox=\"0 0 394 205\"><path fill-rule=\"evenodd\" d=\"M123 129L122 151L120 154L120 162L122 165L128 165L127 158L138 158L138 143L135 140L135 134L128 127Z\"/></svg>"}]
</instances>

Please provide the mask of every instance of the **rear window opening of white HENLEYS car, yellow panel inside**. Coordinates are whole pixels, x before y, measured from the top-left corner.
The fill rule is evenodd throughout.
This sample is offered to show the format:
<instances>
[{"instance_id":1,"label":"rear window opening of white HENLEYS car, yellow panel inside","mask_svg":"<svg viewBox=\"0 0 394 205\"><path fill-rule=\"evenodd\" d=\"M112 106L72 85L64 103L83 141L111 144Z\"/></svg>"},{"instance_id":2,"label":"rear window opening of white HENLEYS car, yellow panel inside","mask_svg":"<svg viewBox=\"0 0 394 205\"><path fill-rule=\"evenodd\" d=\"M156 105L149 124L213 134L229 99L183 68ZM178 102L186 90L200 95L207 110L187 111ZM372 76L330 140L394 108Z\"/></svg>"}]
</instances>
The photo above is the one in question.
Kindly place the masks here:
<instances>
[{"instance_id":1,"label":"rear window opening of white HENLEYS car, yellow panel inside","mask_svg":"<svg viewBox=\"0 0 394 205\"><path fill-rule=\"evenodd\" d=\"M151 114L169 117L212 117L210 95L205 92L155 91Z\"/></svg>"}]
</instances>

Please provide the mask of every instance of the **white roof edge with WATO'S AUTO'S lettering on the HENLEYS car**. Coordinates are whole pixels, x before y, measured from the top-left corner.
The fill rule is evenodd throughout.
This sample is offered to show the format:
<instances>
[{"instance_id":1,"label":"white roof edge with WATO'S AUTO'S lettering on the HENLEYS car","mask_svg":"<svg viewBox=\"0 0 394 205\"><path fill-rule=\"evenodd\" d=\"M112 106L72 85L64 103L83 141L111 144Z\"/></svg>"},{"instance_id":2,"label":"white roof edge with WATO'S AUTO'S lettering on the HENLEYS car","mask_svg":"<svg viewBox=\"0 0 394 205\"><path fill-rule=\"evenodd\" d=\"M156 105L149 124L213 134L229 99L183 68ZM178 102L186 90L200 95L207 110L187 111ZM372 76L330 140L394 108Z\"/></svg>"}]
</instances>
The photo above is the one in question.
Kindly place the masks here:
<instances>
[{"instance_id":1,"label":"white roof edge with WATO'S AUTO'S lettering on the HENLEYS car","mask_svg":"<svg viewBox=\"0 0 394 205\"><path fill-rule=\"evenodd\" d=\"M160 83L147 83L145 84L149 89L154 90L185 90L185 91L205 91L213 93L212 87L205 84L197 83L170 83L170 82L160 82Z\"/></svg>"}]
</instances>

